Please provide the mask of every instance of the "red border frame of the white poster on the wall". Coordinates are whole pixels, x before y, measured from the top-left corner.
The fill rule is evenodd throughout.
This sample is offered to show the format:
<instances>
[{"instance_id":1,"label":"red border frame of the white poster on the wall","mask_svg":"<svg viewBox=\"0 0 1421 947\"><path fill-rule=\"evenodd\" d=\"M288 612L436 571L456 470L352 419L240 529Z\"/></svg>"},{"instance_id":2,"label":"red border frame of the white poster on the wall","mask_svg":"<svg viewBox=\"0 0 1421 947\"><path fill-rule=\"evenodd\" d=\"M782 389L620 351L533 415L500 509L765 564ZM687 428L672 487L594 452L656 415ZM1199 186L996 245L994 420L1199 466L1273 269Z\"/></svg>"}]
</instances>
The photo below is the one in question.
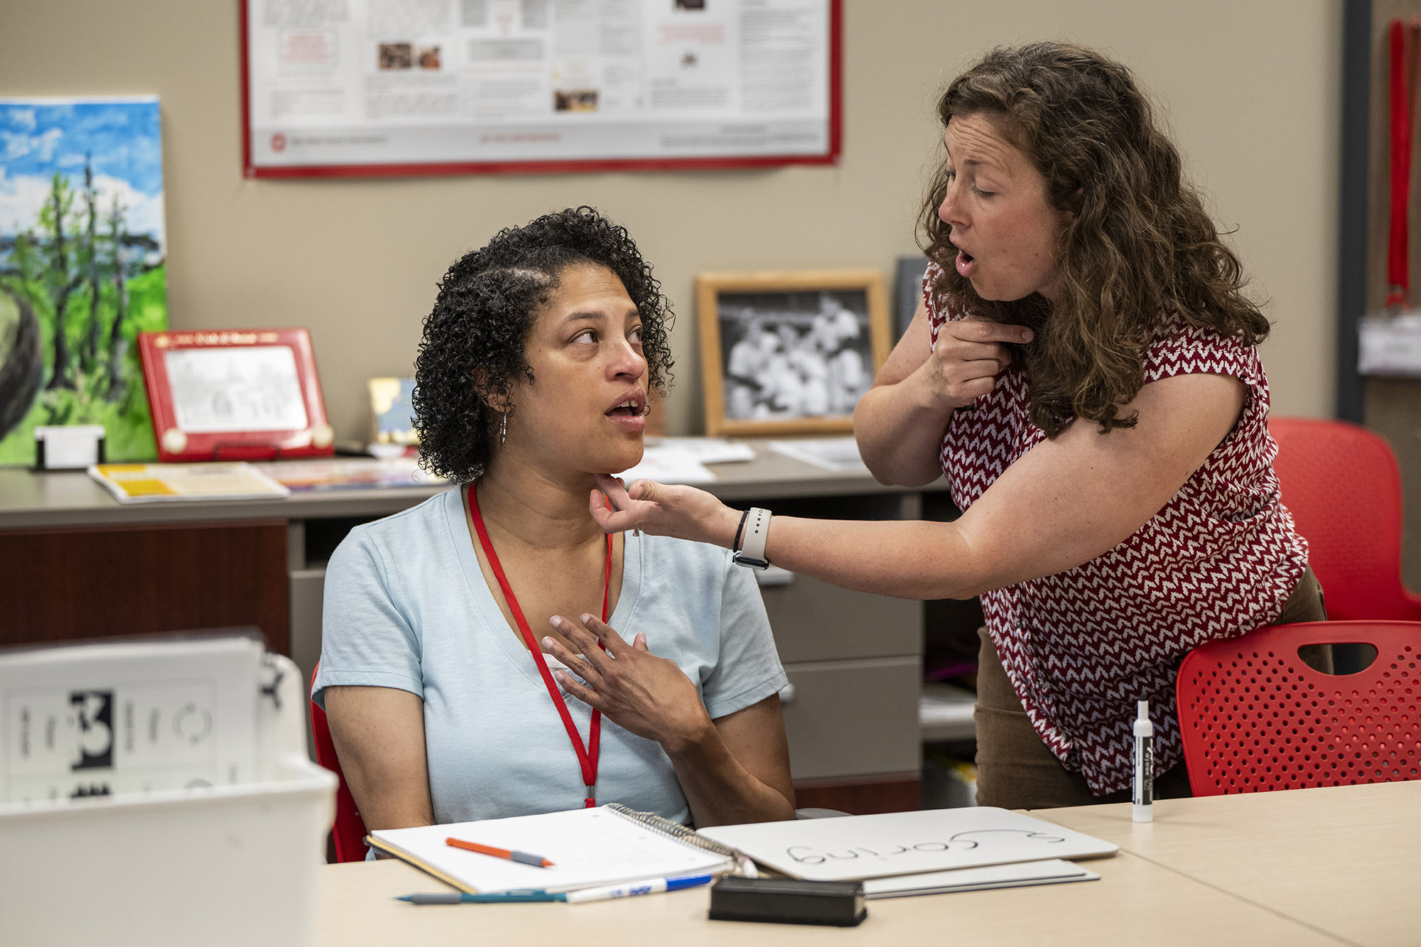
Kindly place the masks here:
<instances>
[{"instance_id":1,"label":"red border frame of the white poster on the wall","mask_svg":"<svg viewBox=\"0 0 1421 947\"><path fill-rule=\"evenodd\" d=\"M843 141L843 0L828 0L828 152L746 158L617 158L588 161L463 161L395 165L252 166L252 77L247 68L247 3L237 0L242 37L242 175L244 178L375 178L398 175L522 175L593 171L725 171L777 165L836 165Z\"/></svg>"}]
</instances>

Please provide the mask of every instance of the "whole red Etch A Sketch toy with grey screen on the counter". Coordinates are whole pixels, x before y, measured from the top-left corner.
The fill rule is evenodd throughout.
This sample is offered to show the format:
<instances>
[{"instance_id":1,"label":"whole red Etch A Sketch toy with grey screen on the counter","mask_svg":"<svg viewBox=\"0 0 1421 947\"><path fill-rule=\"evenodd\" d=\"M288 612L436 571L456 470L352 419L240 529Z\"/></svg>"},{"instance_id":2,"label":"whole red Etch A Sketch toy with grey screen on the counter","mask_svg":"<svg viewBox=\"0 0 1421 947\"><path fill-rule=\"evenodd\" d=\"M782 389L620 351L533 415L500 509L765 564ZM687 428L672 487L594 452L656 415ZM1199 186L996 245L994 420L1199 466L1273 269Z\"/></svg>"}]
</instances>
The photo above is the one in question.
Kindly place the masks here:
<instances>
[{"instance_id":1,"label":"whole red Etch A Sketch toy with grey screen on the counter","mask_svg":"<svg viewBox=\"0 0 1421 947\"><path fill-rule=\"evenodd\" d=\"M334 454L307 330L139 333L138 351L159 461Z\"/></svg>"}]
</instances>

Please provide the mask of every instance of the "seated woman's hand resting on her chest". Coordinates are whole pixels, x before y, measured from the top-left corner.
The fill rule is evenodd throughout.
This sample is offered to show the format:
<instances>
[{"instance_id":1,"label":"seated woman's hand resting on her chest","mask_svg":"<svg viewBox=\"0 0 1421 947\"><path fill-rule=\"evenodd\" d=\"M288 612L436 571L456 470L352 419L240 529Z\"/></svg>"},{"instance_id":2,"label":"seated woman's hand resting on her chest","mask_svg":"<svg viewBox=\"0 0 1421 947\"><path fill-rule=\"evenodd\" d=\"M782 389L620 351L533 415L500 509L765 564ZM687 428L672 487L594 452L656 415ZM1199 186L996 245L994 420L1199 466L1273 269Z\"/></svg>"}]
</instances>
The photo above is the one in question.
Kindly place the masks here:
<instances>
[{"instance_id":1,"label":"seated woman's hand resting on her chest","mask_svg":"<svg viewBox=\"0 0 1421 947\"><path fill-rule=\"evenodd\" d=\"M551 637L543 638L543 647L591 685L578 684L567 671L553 671L568 694L622 729L657 741L668 756L718 739L696 685L675 661L647 650L645 634L628 644L590 614L583 616L583 624L553 616L553 627L581 654L571 654Z\"/></svg>"}]
</instances>

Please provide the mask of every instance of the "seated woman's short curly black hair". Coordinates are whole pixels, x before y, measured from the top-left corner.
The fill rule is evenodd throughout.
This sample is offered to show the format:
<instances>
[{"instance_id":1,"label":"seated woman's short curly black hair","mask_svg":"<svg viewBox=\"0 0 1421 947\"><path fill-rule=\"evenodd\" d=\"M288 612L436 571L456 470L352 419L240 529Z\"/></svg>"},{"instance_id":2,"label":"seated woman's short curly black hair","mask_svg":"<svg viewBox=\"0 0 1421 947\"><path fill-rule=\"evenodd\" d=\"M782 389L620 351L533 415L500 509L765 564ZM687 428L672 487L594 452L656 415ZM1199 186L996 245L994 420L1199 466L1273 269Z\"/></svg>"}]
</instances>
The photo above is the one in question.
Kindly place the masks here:
<instances>
[{"instance_id":1,"label":"seated woman's short curly black hair","mask_svg":"<svg viewBox=\"0 0 1421 947\"><path fill-rule=\"evenodd\" d=\"M570 266L605 266L641 314L648 382L665 395L668 330L675 319L661 283L627 235L593 208L549 213L500 230L482 250L459 257L439 282L435 309L415 358L414 414L419 465L456 483L483 475L500 415L513 411L512 378L533 381L529 331ZM483 377L476 385L475 373Z\"/></svg>"}]
</instances>

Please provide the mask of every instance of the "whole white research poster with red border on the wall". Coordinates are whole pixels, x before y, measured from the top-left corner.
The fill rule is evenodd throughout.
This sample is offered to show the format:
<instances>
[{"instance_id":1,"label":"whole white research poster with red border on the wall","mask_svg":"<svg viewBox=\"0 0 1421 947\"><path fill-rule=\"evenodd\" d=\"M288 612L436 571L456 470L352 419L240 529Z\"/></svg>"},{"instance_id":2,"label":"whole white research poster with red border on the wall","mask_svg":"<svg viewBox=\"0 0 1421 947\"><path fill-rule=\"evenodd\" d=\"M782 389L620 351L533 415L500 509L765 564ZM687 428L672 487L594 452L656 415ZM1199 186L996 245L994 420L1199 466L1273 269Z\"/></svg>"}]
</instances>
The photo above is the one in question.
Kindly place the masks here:
<instances>
[{"instance_id":1,"label":"whole white research poster with red border on the wall","mask_svg":"<svg viewBox=\"0 0 1421 947\"><path fill-rule=\"evenodd\" d=\"M840 0L243 0L247 176L831 164Z\"/></svg>"}]
</instances>

